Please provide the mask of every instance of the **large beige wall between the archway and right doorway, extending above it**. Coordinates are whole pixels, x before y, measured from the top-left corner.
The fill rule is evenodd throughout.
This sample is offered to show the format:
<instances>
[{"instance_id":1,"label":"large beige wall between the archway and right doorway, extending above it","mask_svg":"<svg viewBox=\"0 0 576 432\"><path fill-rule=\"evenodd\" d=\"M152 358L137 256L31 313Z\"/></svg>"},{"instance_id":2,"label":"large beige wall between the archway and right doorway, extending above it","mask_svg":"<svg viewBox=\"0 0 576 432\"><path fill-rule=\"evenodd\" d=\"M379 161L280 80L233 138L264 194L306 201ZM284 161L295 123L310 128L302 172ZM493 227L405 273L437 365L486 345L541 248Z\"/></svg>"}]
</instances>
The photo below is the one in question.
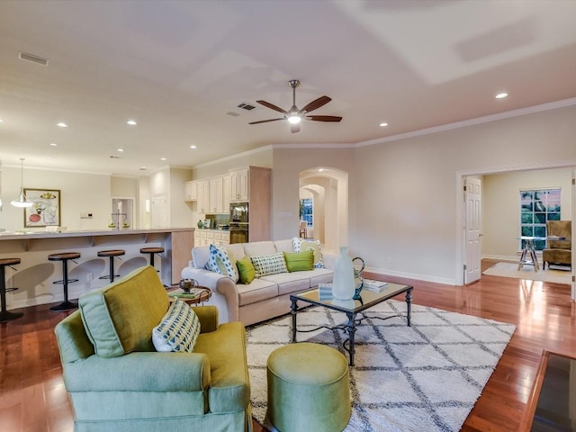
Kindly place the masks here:
<instances>
[{"instance_id":1,"label":"large beige wall between the archway and right doorway, extending above it","mask_svg":"<svg viewBox=\"0 0 576 432\"><path fill-rule=\"evenodd\" d=\"M576 165L574 119L570 106L358 148L350 247L383 273L454 284L456 173Z\"/></svg>"}]
</instances>

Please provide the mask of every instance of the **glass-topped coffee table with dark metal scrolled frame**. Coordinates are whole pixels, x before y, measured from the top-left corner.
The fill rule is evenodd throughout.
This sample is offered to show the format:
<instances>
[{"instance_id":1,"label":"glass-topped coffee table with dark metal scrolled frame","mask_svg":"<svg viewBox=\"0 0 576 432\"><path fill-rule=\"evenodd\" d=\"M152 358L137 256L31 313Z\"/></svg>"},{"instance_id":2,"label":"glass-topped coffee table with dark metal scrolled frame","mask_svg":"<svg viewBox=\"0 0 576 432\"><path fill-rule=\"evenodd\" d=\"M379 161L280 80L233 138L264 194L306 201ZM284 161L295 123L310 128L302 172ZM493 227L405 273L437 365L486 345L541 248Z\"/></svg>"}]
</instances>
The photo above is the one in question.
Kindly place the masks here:
<instances>
[{"instance_id":1,"label":"glass-topped coffee table with dark metal scrolled frame","mask_svg":"<svg viewBox=\"0 0 576 432\"><path fill-rule=\"evenodd\" d=\"M348 335L348 347L346 347L346 342L344 344L344 349L347 350L348 354L350 355L350 365L354 366L354 354L355 354L355 347L354 347L354 335L356 333L356 326L359 325L362 320L366 318L370 319L378 319L378 320L388 320L393 317L398 317L399 315L392 315L386 318L381 317L373 317L373 316L366 316L364 311L372 308L374 305L378 303L385 302L387 300L392 299L392 297L396 297L401 293L405 293L406 299L406 319L408 321L408 327L410 327L410 303L412 300L412 289L413 287L410 285L401 285L401 284L387 284L383 291L376 293L373 291L362 290L360 295L356 300L337 300L333 298L329 298L324 300L322 297L320 300L320 293L318 288L315 288L311 291L306 291L304 293L297 293L292 294L290 296L290 301L292 302L291 305L291 313L292 313L292 342L296 342L296 320L298 317L298 311L301 311L305 306L299 307L298 302L308 303L306 306L310 306L311 304L322 306L324 308L331 309L333 311L343 312L346 314L348 322L341 326L337 326L335 328L329 328L326 326L320 326L313 330L299 330L302 332L306 331L314 331L317 329L342 329ZM360 319L356 319L356 315L361 314L362 317Z\"/></svg>"}]
</instances>

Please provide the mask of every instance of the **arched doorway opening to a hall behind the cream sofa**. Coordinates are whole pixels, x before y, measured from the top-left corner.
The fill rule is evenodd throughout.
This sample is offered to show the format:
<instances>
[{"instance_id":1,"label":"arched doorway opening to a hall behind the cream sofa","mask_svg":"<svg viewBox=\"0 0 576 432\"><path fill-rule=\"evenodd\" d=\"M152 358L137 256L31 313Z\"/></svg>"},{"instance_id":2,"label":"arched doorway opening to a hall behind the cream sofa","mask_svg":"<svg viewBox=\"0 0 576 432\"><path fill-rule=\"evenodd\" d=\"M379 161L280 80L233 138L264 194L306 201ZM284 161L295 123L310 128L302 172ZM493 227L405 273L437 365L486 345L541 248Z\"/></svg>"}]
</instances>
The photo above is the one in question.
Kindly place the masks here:
<instances>
[{"instance_id":1,"label":"arched doorway opening to a hall behind the cream sofa","mask_svg":"<svg viewBox=\"0 0 576 432\"><path fill-rule=\"evenodd\" d=\"M318 166L299 174L300 197L313 202L313 237L327 250L348 244L348 173Z\"/></svg>"}]
</instances>

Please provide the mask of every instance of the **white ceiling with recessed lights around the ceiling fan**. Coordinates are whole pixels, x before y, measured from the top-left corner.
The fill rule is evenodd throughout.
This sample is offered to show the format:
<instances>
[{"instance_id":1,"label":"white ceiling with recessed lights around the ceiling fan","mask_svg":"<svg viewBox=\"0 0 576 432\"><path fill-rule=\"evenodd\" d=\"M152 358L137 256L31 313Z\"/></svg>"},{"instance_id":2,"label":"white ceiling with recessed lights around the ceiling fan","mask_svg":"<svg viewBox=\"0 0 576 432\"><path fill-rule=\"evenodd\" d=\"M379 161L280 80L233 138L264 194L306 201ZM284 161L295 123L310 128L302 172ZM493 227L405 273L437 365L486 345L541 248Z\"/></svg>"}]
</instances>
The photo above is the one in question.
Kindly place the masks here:
<instances>
[{"instance_id":1,"label":"white ceiling with recessed lights around the ceiling fan","mask_svg":"<svg viewBox=\"0 0 576 432\"><path fill-rule=\"evenodd\" d=\"M0 160L142 175L560 101L576 96L574 23L573 0L2 1ZM300 108L327 94L314 114L344 119L247 124L279 117L258 99L288 110L293 78Z\"/></svg>"}]
</instances>

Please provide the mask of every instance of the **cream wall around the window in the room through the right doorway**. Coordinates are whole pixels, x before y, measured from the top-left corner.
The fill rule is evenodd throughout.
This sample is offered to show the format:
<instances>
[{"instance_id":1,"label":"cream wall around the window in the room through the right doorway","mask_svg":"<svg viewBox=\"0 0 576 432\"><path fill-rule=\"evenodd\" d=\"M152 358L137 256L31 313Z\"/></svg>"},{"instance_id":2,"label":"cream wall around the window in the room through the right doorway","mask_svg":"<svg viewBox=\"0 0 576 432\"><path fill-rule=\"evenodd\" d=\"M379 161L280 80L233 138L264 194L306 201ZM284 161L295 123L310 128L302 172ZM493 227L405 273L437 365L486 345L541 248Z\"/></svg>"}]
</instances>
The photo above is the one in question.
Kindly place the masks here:
<instances>
[{"instance_id":1,"label":"cream wall around the window in the room through the right doorway","mask_svg":"<svg viewBox=\"0 0 576 432\"><path fill-rule=\"evenodd\" d=\"M482 257L518 258L521 189L562 188L561 218L572 220L572 169L541 169L484 175Z\"/></svg>"}]
</instances>

